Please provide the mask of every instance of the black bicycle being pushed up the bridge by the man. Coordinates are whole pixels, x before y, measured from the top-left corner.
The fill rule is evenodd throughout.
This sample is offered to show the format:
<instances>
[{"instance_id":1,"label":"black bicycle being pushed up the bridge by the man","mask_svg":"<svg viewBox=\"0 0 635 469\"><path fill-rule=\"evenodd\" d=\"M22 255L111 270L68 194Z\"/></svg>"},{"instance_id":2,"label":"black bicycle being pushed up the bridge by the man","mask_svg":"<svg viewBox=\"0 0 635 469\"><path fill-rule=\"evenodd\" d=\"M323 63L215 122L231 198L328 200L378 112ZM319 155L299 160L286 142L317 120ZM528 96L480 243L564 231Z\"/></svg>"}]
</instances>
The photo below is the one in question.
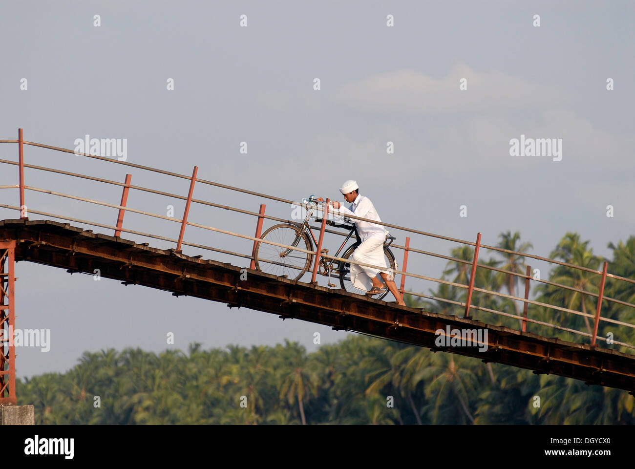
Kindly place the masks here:
<instances>
[{"instance_id":1,"label":"black bicycle being pushed up the bridge by the man","mask_svg":"<svg viewBox=\"0 0 635 469\"><path fill-rule=\"evenodd\" d=\"M309 226L309 219L313 216L313 212L316 208L318 208L318 205L323 206L324 203L316 201L315 196L312 195L308 199L303 199L302 205L303 207L307 207L307 216L302 223L290 222L274 225L267 229L260 238L262 240L272 241L286 246L314 251L314 245L318 245L318 240L313 234L311 226ZM321 219L318 219L317 216L315 219L316 222L321 222ZM344 217L344 221L350 222L351 220ZM361 244L356 226L354 226L352 222L351 224L342 224L327 220L326 223L335 228L350 230L344 242L340 245L340 248L333 256L341 257L342 259L349 259L353 254L353 251ZM355 235L355 242L344 251L344 255L340 256L342 248L344 248L353 235ZM384 241L384 260L387 268L392 269L393 272L398 268L394 254L392 254L392 251L390 250L390 246L394 240L396 240L394 236L387 236ZM323 248L321 254L328 254L328 249ZM302 276L311 269L313 254L307 254L305 252L262 243L259 241L256 245L254 261L256 269L262 272L271 273L276 276L284 276L290 280L300 280L300 278L302 278ZM350 267L351 264L349 262L321 257L318 264L318 273L323 276L328 276L329 287L337 286L335 283L331 283L331 276L335 275L339 277L342 289L355 294L366 294L365 290L353 287ZM384 282L383 279L382 282ZM383 293L378 293L373 296L369 295L368 297L382 299L388 294L388 291L389 290L386 287Z\"/></svg>"}]
</instances>

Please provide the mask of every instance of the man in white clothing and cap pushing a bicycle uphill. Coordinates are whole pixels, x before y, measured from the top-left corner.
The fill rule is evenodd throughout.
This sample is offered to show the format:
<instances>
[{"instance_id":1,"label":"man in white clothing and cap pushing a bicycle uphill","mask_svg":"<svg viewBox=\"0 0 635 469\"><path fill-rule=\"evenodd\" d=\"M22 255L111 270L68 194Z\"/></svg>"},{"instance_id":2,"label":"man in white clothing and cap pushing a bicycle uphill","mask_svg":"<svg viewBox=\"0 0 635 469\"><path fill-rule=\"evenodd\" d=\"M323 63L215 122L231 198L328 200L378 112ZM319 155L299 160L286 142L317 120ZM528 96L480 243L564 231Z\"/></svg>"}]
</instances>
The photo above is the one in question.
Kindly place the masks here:
<instances>
[{"instance_id":1,"label":"man in white clothing and cap pushing a bicycle uphill","mask_svg":"<svg viewBox=\"0 0 635 469\"><path fill-rule=\"evenodd\" d=\"M351 208L345 208L338 201L331 201L333 208L339 210L340 215L354 215L360 218L381 221L370 199L359 195L359 186L356 181L347 180L344 182L342 187L340 187L340 192L344 194L347 202L352 203ZM324 201L321 197L318 200ZM386 240L384 226L362 220L352 219L351 221L355 224L359 241L361 241L361 244L354 250L351 259L374 266L387 267L384 259L384 241ZM403 297L387 269L382 270L351 264L351 283L360 290L369 290L368 294L370 295L381 293L385 290L385 287L377 277L378 273L384 279L388 289L391 290L397 303L405 306Z\"/></svg>"}]
</instances>

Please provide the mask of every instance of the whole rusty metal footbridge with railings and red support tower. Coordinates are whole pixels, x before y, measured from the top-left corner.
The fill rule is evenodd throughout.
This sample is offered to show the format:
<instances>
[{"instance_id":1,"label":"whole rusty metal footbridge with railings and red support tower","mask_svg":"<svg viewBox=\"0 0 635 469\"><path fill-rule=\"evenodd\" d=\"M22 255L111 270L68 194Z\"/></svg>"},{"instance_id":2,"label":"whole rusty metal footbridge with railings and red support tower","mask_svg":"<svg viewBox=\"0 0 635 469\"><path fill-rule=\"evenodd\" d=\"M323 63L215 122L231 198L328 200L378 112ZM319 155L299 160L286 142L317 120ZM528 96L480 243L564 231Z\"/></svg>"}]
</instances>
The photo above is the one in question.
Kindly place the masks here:
<instances>
[{"instance_id":1,"label":"whole rusty metal footbridge with railings and red support tower","mask_svg":"<svg viewBox=\"0 0 635 469\"><path fill-rule=\"evenodd\" d=\"M0 189L17 189L19 193L19 205L5 204L4 201L8 201L8 198L3 197L0 199L3 201L3 203L0 203L0 207L17 210L20 213L20 217L17 219L4 219L0 221L0 324L3 326L0 328L0 333L8 329L9 326L15 328L15 262L30 261L63 268L69 273L88 273L95 275L95 273L98 272L100 276L119 280L124 285L144 285L145 287L172 292L175 296L194 296L211 301L224 302L227 303L227 306L230 308L244 306L245 308L274 313L283 319L296 318L328 325L336 330L362 332L364 334L384 337L403 343L416 344L434 351L458 353L460 355L479 358L484 362L497 362L530 369L536 373L552 373L572 377L574 379L583 380L587 384L610 386L635 393L635 355L613 350L613 348L620 347L622 350L632 352L635 350L635 346L621 341L613 341L611 343L607 341L605 337L598 334L598 327L601 323L612 323L621 327L635 328L635 325L632 323L601 315L603 301L615 302L625 308L635 308L634 304L604 295L606 278L613 278L616 281L627 282L629 284L635 283L635 280L608 273L606 262L604 263L602 271L595 271L566 262L547 259L546 257L540 257L538 255L483 245L481 244L481 233L478 233L476 236L476 242L471 242L426 233L396 224L381 223L388 228L394 228L411 235L417 235L420 238L431 237L474 247L474 258L472 261L465 261L464 259L455 259L447 255L435 254L434 252L411 247L410 236L406 236L404 245L391 245L391 248L403 250L403 264L401 264L400 269L394 269L396 275L401 275L399 290L402 293L431 299L439 302L439 304L452 304L464 311L462 316L432 313L422 308L399 306L396 302L380 301L349 292L345 289L333 289L319 285L316 278L318 278L319 274L324 274L319 268L319 261L321 261L321 259L336 259L342 262L350 262L351 264L368 265L352 261L351 259L334 257L322 250L321 247L323 245L324 236L326 236L327 233L336 236L346 236L346 233L326 228L328 200L324 207L319 208L319 210L322 211L321 226L311 226L312 229L319 231L317 246L307 252L307 250L296 246L276 243L261 237L265 219L298 225L298 222L295 220L265 214L264 204L260 205L258 212L251 212L244 208L195 199L193 195L194 187L199 188L203 185L217 187L224 191L237 191L238 193L250 194L251 196L266 198L276 201L277 203L291 204L291 207L304 207L304 202L298 203L276 196L260 194L247 189L200 179L197 177L197 167L194 167L192 175L188 176L159 170L157 168L145 167L128 161L119 161L117 159L99 156L98 154L80 153L70 149L29 142L23 139L22 129L18 130L18 139L0 140L0 143L15 143L18 146L17 161L0 160L0 164L3 165L3 171L0 172L0 174L8 174L7 169L10 168L10 165L13 165L17 167L17 175L19 178L18 184L0 186ZM133 186L131 184L131 174L126 174L124 182L117 182L94 175L69 172L52 167L30 165L25 163L24 146L41 147L72 154L73 158L93 158L107 163L136 168L144 172L160 173L172 178L184 179L189 183L189 191L187 196L184 196L159 191L150 187ZM94 153L98 152L95 151ZM24 180L25 168L109 184L110 186L118 186L121 187L121 200L117 204L114 203L114 201L92 200L77 194L54 191L51 188L27 186ZM95 171L97 171L97 169L95 169ZM65 187L69 187L68 184ZM128 193L131 189L149 194L167 196L171 200L183 201L184 212L182 217L178 219L173 216L164 216L128 207ZM79 219L75 216L65 214L53 214L43 210L37 210L37 207L33 207L32 205L27 207L25 203L25 190L51 194L60 198L76 200L81 203L116 209L117 216L114 217L114 215L112 215L115 224L112 225L95 220ZM214 207L228 210L235 214L256 217L255 236L234 233L233 231L206 226L190 220L189 215L192 204ZM60 208L60 210L64 210L64 208ZM144 217L153 217L154 219L178 223L180 226L178 238L174 239L156 233L124 228L124 215L129 212L143 215ZM76 212L73 212L73 214L76 215ZM32 219L33 215L39 215L44 218L35 220ZM354 216L350 218L363 220ZM57 222L52 219L65 222ZM93 230L86 229L86 226L97 227L104 231L104 233L93 233ZM218 246L222 245L222 241L218 241L218 244L215 246L184 241L185 228L187 226L207 230L206 233L212 231L219 235L224 235L226 236L224 239L239 238L243 240L243 243L247 241L250 243L251 252L246 254L220 248ZM107 235L105 232L112 234ZM150 238L157 240L157 242L174 243L173 246L175 247L167 249L150 247L149 243L137 243L127 240L122 237L122 233ZM304 254L310 253L312 255L311 259L314 260L314 265L309 269L306 275L311 275L311 281L303 282L302 280L305 280L304 277L297 280L290 280L287 276L272 275L257 269L255 253L258 243L304 252ZM194 256L185 255L182 249L184 246L196 248L197 252L211 251L218 255L229 255L236 258L238 262L249 261L249 267L213 259L202 259L203 255L201 254ZM526 273L523 275L498 269L483 264L482 262L479 263L480 248L486 248L505 254L524 256L551 264L559 264L567 268L578 269L598 275L600 279L599 292L580 290L547 280L535 279L530 275L530 266L527 266ZM466 284L448 282L447 280L408 272L408 255L410 253L430 255L463 264L467 266L466 268L470 271L469 281ZM311 264L313 264L312 261ZM474 278L477 268L489 269L524 279L525 296L516 297L502 292L475 287ZM406 277L412 281L425 280L449 285L458 289L465 289L467 290L467 301L460 302L448 298L421 294L412 291L412 288L406 290ZM590 314L585 311L576 311L574 309L563 308L561 306L545 304L544 302L529 299L531 282L545 283L559 289L573 290L590 297L595 297L597 299L596 311L594 314ZM495 309L471 304L472 294L474 292L503 297L511 301L523 302L523 314L514 315L512 313L496 311ZM592 320L592 333L573 330L553 322L545 322L531 317L531 309L528 309L530 305L560 311L561 313L584 316L586 320ZM502 318L512 318L514 323L518 323L519 327L515 329L504 325L493 325L481 322L474 318L474 311L485 311L499 315ZM554 330L568 332L573 334L573 336L582 337L582 340L587 341L587 343L573 343L563 341L559 338L538 336L527 330L528 324L531 325L532 323L544 327L551 327ZM469 345L472 346L438 346L436 342L436 339L439 337L438 331L446 331L448 327L450 327L450 330L470 329L476 332L486 330L488 332L487 336L485 336L487 344L486 350L483 350L485 347L474 346L478 345L476 343L476 335L470 339L473 343ZM445 332L443 335L446 335ZM0 404L15 404L15 348L10 339L6 337L6 333L1 337ZM605 341L606 346L599 348L598 341ZM481 343L481 345L483 344Z\"/></svg>"}]
</instances>

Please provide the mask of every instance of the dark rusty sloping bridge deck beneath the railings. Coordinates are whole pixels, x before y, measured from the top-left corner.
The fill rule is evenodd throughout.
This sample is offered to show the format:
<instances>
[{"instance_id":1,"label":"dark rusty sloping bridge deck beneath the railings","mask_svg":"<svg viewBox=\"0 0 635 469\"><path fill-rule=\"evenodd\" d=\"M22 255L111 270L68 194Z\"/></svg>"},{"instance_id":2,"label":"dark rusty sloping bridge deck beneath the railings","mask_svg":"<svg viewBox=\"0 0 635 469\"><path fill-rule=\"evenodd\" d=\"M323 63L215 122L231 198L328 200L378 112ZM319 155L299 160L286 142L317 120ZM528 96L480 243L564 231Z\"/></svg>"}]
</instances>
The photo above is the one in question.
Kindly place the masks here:
<instances>
[{"instance_id":1,"label":"dark rusty sloping bridge deck beneath the railings","mask_svg":"<svg viewBox=\"0 0 635 469\"><path fill-rule=\"evenodd\" d=\"M0 221L0 240L17 241L16 260L90 275L100 269L102 277L126 285L144 285L177 296L225 302L230 307L243 306L281 318L355 330L434 351L635 391L635 357L618 351L540 337L469 318L422 312L251 269L246 269L247 280L240 280L244 268L232 264L137 245L57 222ZM445 330L448 325L451 329L486 329L487 350L479 351L476 346L437 346L436 331Z\"/></svg>"}]
</instances>

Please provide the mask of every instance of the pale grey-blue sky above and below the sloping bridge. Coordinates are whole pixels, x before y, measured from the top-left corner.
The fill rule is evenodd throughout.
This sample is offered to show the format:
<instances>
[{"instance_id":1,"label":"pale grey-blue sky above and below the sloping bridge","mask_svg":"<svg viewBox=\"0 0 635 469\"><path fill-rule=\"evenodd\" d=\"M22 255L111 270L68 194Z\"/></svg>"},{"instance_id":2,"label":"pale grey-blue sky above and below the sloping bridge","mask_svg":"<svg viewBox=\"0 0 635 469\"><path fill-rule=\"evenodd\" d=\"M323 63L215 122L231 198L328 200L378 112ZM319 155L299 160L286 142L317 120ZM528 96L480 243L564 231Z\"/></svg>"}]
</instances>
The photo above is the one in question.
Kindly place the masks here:
<instances>
[{"instance_id":1,"label":"pale grey-blue sky above and below the sloping bridge","mask_svg":"<svg viewBox=\"0 0 635 469\"><path fill-rule=\"evenodd\" d=\"M69 149L87 134L126 139L131 163L184 175L197 166L199 178L288 200L344 201L338 187L354 179L385 222L469 241L482 233L486 245L519 231L543 256L577 231L594 254L610 257L608 243L627 240L635 226L634 20L632 1L4 0L0 139L16 139L18 128L25 140ZM512 156L510 142L521 135L561 142L561 160ZM0 159L17 157L17 145L0 144ZM36 147L25 147L25 162L121 182L131 173L132 184L188 190L187 180ZM17 184L17 176L17 167L0 163L0 185ZM121 198L120 187L29 168L25 184ZM288 204L203 184L194 197L291 214ZM114 208L34 191L25 199L32 210L116 222ZM0 189L0 203L18 205L17 189ZM138 191L128 198L129 207L157 214L168 205L180 217L180 200ZM0 219L15 218L0 208ZM190 220L250 236L256 224L204 206L192 207ZM126 214L124 228L178 237L178 224L144 215ZM399 245L410 236L421 250L447 255L457 246L390 231ZM249 241L203 229L187 228L185 240L251 252ZM401 264L403 251L395 252ZM424 255L408 259L408 271L420 275L438 278L444 267ZM18 377L64 372L84 351L107 348L289 339L314 351L352 334L30 262L19 262L16 276L17 327L50 329L50 350L18 350ZM432 287L406 281L418 292Z\"/></svg>"}]
</instances>

